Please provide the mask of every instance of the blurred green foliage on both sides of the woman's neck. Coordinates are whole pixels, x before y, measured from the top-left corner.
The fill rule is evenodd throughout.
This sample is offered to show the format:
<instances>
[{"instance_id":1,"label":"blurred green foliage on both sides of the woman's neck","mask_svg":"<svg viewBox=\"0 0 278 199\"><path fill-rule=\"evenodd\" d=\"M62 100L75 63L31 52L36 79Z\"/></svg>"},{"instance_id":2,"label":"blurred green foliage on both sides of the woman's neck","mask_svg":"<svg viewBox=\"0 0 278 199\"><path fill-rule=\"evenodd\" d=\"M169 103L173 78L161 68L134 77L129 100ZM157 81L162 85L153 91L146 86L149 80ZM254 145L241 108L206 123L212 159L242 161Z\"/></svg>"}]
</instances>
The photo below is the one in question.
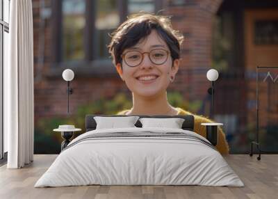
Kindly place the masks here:
<instances>
[{"instance_id":1,"label":"blurred green foliage on both sides of the woman's neck","mask_svg":"<svg viewBox=\"0 0 278 199\"><path fill-rule=\"evenodd\" d=\"M183 99L181 93L167 93L167 98L172 106L178 106L188 111L197 112L201 107L202 101L188 102ZM124 93L119 93L115 97L104 99L101 97L94 102L81 104L76 112L69 117L42 118L35 125L35 153L59 153L60 143L63 138L60 132L53 132L59 125L75 125L82 129L81 132L74 134L74 137L85 132L85 116L87 114L115 115L118 111L131 109L132 100Z\"/></svg>"}]
</instances>

